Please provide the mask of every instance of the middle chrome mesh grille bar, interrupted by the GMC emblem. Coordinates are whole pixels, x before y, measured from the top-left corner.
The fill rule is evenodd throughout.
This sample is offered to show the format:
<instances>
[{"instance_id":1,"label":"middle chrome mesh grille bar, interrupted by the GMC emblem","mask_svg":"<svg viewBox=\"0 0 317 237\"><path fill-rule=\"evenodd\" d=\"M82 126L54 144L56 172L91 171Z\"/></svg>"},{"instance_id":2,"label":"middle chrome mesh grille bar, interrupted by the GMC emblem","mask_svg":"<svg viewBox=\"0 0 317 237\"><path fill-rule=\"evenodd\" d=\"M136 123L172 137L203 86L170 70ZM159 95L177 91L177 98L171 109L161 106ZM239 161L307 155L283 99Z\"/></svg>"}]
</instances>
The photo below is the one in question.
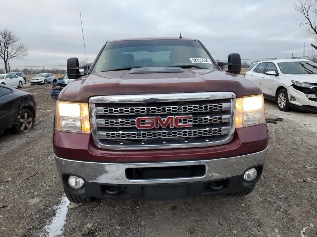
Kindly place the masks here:
<instances>
[{"instance_id":1,"label":"middle chrome mesh grille bar, interrupted by the GMC emblem","mask_svg":"<svg viewBox=\"0 0 317 237\"><path fill-rule=\"evenodd\" d=\"M162 117L163 119L166 119ZM220 116L193 116L193 119L181 119L182 123L193 123L195 124L213 124L230 122L231 115L220 115ZM141 125L145 125L144 122ZM136 119L96 119L97 127L136 127Z\"/></svg>"}]
</instances>

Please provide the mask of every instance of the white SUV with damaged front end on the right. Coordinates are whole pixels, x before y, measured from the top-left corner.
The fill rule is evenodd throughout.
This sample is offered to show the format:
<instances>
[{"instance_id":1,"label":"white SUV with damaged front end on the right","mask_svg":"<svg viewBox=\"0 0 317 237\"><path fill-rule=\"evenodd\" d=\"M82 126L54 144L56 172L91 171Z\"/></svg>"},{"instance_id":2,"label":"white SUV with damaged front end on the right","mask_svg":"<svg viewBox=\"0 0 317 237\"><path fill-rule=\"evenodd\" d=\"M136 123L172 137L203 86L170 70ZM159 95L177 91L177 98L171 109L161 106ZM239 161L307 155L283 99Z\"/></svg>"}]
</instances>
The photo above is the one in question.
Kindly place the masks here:
<instances>
[{"instance_id":1,"label":"white SUV with damaged front end on the right","mask_svg":"<svg viewBox=\"0 0 317 237\"><path fill-rule=\"evenodd\" d=\"M305 59L277 59L252 64L245 78L281 111L295 108L317 113L317 64Z\"/></svg>"}]
</instances>

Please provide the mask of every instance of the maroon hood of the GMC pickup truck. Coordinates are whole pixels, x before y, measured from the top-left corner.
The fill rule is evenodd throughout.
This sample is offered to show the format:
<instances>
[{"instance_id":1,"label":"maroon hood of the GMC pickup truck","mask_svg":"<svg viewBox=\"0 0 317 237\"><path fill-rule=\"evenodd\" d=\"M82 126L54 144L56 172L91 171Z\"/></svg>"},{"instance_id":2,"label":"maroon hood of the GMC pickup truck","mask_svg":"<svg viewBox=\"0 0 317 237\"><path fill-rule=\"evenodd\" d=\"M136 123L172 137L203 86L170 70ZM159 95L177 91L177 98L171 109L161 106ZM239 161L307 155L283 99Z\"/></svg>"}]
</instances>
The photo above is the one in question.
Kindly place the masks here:
<instances>
[{"instance_id":1,"label":"maroon hood of the GMC pickup truck","mask_svg":"<svg viewBox=\"0 0 317 237\"><path fill-rule=\"evenodd\" d=\"M92 96L164 94L186 92L234 92L237 97L261 94L249 80L220 70L185 69L184 72L137 73L129 70L93 73L76 79L58 100L88 103Z\"/></svg>"}]
</instances>

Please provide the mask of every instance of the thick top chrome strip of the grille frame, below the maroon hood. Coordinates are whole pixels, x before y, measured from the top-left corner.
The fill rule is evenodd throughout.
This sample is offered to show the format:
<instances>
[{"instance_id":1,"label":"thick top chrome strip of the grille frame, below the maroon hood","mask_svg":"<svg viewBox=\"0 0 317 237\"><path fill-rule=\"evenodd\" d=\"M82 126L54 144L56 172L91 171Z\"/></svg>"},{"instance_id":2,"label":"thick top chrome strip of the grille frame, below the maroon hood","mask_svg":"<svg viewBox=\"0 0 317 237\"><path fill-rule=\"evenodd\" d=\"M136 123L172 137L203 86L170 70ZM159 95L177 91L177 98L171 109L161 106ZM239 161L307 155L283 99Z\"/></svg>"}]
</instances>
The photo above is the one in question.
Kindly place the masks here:
<instances>
[{"instance_id":1,"label":"thick top chrome strip of the grille frame, below the maroon hood","mask_svg":"<svg viewBox=\"0 0 317 237\"><path fill-rule=\"evenodd\" d=\"M146 95L102 95L89 98L89 103L147 103L147 102L177 102L204 101L236 98L233 92L201 92L178 94L146 94Z\"/></svg>"}]
</instances>

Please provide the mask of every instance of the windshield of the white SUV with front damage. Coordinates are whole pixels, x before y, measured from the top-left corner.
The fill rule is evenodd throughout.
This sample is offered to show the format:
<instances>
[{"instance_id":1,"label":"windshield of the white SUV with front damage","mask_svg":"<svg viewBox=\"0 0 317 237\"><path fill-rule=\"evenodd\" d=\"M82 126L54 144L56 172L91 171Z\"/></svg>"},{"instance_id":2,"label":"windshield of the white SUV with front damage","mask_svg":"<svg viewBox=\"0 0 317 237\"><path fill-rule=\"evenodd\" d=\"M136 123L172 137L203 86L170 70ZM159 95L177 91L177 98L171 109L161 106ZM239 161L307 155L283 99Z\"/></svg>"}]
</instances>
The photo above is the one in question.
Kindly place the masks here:
<instances>
[{"instance_id":1,"label":"windshield of the white SUV with front damage","mask_svg":"<svg viewBox=\"0 0 317 237\"><path fill-rule=\"evenodd\" d=\"M311 61L278 63L285 74L317 74L317 65Z\"/></svg>"}]
</instances>

